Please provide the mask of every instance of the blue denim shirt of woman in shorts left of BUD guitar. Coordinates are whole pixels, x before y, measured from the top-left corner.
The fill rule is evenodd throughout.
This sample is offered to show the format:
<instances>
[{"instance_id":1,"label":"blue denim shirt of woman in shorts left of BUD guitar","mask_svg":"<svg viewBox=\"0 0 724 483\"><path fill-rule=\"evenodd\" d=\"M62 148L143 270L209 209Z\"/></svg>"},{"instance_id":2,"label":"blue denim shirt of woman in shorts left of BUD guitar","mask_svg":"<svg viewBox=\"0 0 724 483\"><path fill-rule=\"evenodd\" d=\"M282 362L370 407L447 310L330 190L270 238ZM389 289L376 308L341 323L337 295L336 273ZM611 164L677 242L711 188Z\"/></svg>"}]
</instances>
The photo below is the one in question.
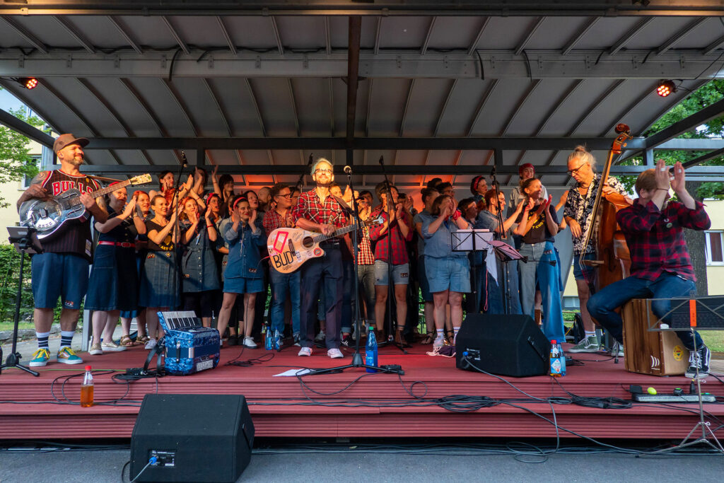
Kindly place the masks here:
<instances>
[{"instance_id":1,"label":"blue denim shirt of woman in shorts left of BUD guitar","mask_svg":"<svg viewBox=\"0 0 724 483\"><path fill-rule=\"evenodd\" d=\"M248 224L239 223L238 230L230 221L224 227L224 240L229 243L229 258L224 271L225 278L262 278L264 266L261 264L259 249L266 245L264 228L257 227L256 233Z\"/></svg>"}]
</instances>

